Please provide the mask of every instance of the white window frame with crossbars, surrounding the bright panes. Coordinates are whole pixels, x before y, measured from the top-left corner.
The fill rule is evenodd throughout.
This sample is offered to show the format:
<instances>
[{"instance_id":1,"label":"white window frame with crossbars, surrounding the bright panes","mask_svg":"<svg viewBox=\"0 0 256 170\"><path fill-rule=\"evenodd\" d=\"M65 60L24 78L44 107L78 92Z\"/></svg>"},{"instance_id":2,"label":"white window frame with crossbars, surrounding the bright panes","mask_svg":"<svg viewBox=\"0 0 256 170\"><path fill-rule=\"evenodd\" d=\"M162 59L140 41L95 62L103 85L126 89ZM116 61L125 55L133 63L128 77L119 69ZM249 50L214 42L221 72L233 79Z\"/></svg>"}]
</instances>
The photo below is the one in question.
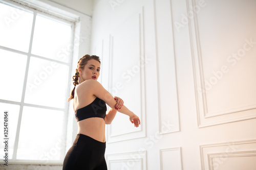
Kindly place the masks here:
<instances>
[{"instance_id":1,"label":"white window frame with crossbars, surrounding the bright panes","mask_svg":"<svg viewBox=\"0 0 256 170\"><path fill-rule=\"evenodd\" d=\"M33 40L33 34L34 34L34 27L35 27L35 18L37 14L42 14L45 16L49 16L49 18L56 19L61 22L69 23L72 27L72 37L71 37L71 44L73 47L73 53L69 56L69 62L61 62L54 59L49 59L37 55L32 55L33 57L54 61L56 63L65 64L69 67L69 74L68 74L68 80L71 80L76 66L78 59L83 56L84 54L89 54L90 52L90 33L91 30L88 31L82 31L83 27L86 25L91 26L91 16L75 11L73 9L70 9L68 7L61 6L60 4L48 1L48 0L0 0L0 3L20 8L20 9L27 9L29 11L34 12L33 16L33 24L32 24L32 31L31 31L31 37L30 37L30 44L29 44L29 51L28 53L14 50L12 48L0 46L0 49L7 50L10 52L22 54L28 56L27 59L27 66L26 66L26 72L25 72L25 79L23 84L23 92L22 92L22 100L21 102L14 102L14 101L8 101L8 100L2 100L0 99L1 103L8 103L8 104L15 104L20 105L19 109L19 117L18 117L18 123L17 123L17 131L15 136L15 142L14 142L14 151L13 151L13 158L8 160L9 164L62 164L63 159L66 155L67 150L71 147L73 143L73 139L76 136L76 130L77 130L77 124L74 116L72 101L67 103L65 105L64 109L60 108L54 108L54 107L48 107L48 106L40 106L40 105L34 105L34 104L27 104L24 103L25 99L25 90L27 85L27 78L28 78L28 70L29 70L29 62L31 58L31 48L32 48L32 40ZM82 27L83 26L83 27ZM88 28L88 27L87 27ZM91 27L89 27L91 28ZM86 39L84 39L86 37ZM89 45L88 45L89 44ZM67 84L69 88L66 91L66 96L68 99L68 96L70 95L70 91L73 89L74 85L69 81L69 84ZM62 143L61 147L63 148L61 150L61 160L59 161L51 161L51 160L21 160L16 159L17 155L17 147L18 147L18 138L19 138L19 131L20 131L20 123L22 119L22 111L24 106L33 106L37 108L45 108L45 109L52 109L52 110L59 110L65 112L65 118L63 122L63 134L62 134ZM69 127L69 128L68 128ZM70 128L72 127L72 128ZM53 127L54 128L54 127ZM1 158L2 159L2 158Z\"/></svg>"}]
</instances>

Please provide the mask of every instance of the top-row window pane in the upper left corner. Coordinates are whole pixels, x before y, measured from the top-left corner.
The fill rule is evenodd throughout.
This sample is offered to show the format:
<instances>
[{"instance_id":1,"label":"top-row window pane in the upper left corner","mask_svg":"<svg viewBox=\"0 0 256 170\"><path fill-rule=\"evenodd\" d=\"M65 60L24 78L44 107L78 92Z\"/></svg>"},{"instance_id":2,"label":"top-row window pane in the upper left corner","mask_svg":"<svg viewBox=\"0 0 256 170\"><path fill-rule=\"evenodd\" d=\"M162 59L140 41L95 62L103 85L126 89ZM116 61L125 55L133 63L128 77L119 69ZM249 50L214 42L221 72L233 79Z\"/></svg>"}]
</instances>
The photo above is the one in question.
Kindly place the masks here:
<instances>
[{"instance_id":1,"label":"top-row window pane in the upper left corner","mask_svg":"<svg viewBox=\"0 0 256 170\"><path fill-rule=\"evenodd\" d=\"M28 52L33 14L0 3L0 45Z\"/></svg>"}]
</instances>

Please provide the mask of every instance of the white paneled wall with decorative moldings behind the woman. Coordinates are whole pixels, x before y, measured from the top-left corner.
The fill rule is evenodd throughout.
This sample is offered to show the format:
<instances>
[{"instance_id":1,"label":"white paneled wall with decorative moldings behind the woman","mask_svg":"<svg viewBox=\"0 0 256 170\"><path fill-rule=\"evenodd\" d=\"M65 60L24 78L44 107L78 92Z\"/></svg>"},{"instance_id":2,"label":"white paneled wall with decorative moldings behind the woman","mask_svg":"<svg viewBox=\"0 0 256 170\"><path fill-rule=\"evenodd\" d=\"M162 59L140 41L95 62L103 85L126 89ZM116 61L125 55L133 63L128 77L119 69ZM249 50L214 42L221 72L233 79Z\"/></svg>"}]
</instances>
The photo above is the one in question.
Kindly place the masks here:
<instances>
[{"instance_id":1,"label":"white paneled wall with decorative moldings behind the woman","mask_svg":"<svg viewBox=\"0 0 256 170\"><path fill-rule=\"evenodd\" d=\"M107 125L110 169L256 168L255 3L95 3L101 83L142 120Z\"/></svg>"}]
</instances>

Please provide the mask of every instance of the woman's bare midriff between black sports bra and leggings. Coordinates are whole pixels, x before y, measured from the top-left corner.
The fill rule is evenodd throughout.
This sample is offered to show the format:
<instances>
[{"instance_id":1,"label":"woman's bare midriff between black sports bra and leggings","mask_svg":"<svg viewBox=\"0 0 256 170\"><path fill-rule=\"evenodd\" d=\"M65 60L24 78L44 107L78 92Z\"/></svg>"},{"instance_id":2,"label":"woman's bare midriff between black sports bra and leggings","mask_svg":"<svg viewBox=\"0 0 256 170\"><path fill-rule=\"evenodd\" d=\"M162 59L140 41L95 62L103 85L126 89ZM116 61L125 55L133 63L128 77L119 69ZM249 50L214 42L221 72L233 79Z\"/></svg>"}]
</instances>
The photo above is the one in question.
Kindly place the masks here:
<instances>
[{"instance_id":1,"label":"woman's bare midriff between black sports bra and leggings","mask_svg":"<svg viewBox=\"0 0 256 170\"><path fill-rule=\"evenodd\" d=\"M100 117L90 117L77 122L77 134L87 135L100 142L105 142L105 120Z\"/></svg>"}]
</instances>

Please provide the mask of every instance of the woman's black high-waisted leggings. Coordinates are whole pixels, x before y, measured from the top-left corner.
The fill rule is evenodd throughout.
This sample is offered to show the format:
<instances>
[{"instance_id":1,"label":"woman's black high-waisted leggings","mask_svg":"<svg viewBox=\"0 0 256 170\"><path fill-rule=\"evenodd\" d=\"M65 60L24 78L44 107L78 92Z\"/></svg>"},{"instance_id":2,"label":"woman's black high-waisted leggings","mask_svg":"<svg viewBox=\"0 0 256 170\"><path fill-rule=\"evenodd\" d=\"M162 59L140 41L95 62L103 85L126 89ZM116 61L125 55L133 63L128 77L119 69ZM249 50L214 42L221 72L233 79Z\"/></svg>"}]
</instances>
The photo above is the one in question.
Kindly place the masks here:
<instances>
[{"instance_id":1,"label":"woman's black high-waisted leggings","mask_svg":"<svg viewBox=\"0 0 256 170\"><path fill-rule=\"evenodd\" d=\"M106 142L77 134L72 147L66 154L62 170L106 170Z\"/></svg>"}]
</instances>

